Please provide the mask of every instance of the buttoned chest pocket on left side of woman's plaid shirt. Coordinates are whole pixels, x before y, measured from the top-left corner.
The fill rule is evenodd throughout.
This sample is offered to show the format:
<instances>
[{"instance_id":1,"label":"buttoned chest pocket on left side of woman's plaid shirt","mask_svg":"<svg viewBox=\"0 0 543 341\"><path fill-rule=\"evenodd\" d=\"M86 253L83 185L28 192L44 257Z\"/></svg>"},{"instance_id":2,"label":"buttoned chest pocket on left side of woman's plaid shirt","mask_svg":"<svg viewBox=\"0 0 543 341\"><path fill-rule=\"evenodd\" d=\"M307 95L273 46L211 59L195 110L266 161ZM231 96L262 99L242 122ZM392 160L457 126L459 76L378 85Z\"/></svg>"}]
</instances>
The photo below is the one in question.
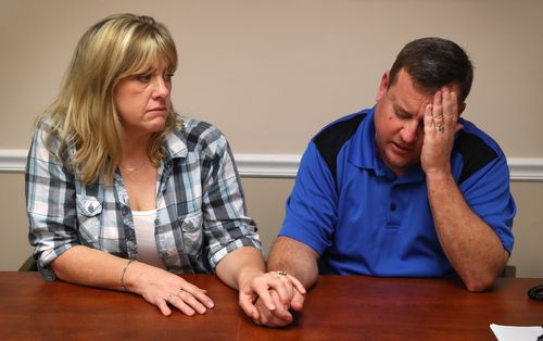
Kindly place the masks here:
<instances>
[{"instance_id":1,"label":"buttoned chest pocket on left side of woman's plaid shirt","mask_svg":"<svg viewBox=\"0 0 543 341\"><path fill-rule=\"evenodd\" d=\"M102 200L96 197L77 195L77 222L79 237L85 245L97 247L100 239Z\"/></svg>"}]
</instances>

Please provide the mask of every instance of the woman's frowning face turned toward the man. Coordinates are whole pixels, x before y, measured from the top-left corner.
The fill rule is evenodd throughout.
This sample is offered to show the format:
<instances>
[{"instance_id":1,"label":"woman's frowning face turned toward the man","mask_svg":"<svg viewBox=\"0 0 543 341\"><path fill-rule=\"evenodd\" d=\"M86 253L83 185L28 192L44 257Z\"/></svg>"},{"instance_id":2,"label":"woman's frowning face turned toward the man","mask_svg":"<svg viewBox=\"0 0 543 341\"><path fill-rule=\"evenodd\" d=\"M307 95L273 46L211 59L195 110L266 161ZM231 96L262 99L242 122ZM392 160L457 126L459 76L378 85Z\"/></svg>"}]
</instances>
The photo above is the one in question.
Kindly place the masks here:
<instances>
[{"instance_id":1,"label":"woman's frowning face turned toward the man","mask_svg":"<svg viewBox=\"0 0 543 341\"><path fill-rule=\"evenodd\" d=\"M118 81L114 102L128 137L151 135L164 129L168 115L172 76L165 61L152 70Z\"/></svg>"}]
</instances>

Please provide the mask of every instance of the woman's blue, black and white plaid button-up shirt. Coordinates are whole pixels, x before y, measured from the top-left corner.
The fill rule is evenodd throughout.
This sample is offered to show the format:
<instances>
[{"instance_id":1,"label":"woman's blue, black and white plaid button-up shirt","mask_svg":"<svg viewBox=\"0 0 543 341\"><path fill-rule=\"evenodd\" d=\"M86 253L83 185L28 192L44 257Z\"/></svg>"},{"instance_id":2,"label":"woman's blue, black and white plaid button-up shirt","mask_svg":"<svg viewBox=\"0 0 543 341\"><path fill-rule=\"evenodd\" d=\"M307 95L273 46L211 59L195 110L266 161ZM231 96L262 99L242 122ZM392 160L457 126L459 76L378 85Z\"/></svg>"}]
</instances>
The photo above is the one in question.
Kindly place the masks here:
<instances>
[{"instance_id":1,"label":"woman's blue, black and white plaid button-up shirt","mask_svg":"<svg viewBox=\"0 0 543 341\"><path fill-rule=\"evenodd\" d=\"M225 136L207 123L177 119L185 127L166 138L168 155L156 177L157 251L172 273L211 273L229 252L262 245L247 216ZM60 139L52 143L52 153L46 149L50 124L38 124L26 165L28 238L41 274L54 280L50 263L74 245L136 258L134 219L121 173L117 169L112 186L103 178L81 184L61 162Z\"/></svg>"}]
</instances>

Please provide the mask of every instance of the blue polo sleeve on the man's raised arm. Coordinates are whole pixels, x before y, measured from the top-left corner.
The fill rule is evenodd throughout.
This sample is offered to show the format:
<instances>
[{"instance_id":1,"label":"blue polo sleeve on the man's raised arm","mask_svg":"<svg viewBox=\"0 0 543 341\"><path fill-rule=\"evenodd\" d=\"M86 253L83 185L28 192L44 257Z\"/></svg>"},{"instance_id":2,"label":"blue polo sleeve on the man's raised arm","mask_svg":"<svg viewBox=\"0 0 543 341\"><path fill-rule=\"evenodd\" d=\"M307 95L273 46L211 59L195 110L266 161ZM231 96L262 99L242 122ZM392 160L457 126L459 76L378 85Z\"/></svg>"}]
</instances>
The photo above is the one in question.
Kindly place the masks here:
<instances>
[{"instance_id":1,"label":"blue polo sleeve on the man's raised arm","mask_svg":"<svg viewBox=\"0 0 543 341\"><path fill-rule=\"evenodd\" d=\"M503 154L460 184L469 207L497 235L510 254L516 205L509 191L509 169Z\"/></svg>"}]
</instances>

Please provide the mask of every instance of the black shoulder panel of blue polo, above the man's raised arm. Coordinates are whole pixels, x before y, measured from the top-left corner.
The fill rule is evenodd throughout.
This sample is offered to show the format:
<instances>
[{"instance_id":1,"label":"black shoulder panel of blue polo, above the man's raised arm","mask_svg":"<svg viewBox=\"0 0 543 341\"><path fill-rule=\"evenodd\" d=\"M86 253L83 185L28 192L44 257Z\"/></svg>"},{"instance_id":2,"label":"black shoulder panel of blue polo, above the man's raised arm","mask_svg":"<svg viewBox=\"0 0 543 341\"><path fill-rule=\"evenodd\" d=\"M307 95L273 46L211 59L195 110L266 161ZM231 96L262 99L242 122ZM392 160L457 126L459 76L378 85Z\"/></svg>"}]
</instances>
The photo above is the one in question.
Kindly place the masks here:
<instances>
[{"instance_id":1,"label":"black shoulder panel of blue polo, above the man's raised arm","mask_svg":"<svg viewBox=\"0 0 543 341\"><path fill-rule=\"evenodd\" d=\"M464 162L458 184L464 182L473 173L497 157L497 153L480 137L473 134L462 131L456 139L454 148L462 154Z\"/></svg>"}]
</instances>

